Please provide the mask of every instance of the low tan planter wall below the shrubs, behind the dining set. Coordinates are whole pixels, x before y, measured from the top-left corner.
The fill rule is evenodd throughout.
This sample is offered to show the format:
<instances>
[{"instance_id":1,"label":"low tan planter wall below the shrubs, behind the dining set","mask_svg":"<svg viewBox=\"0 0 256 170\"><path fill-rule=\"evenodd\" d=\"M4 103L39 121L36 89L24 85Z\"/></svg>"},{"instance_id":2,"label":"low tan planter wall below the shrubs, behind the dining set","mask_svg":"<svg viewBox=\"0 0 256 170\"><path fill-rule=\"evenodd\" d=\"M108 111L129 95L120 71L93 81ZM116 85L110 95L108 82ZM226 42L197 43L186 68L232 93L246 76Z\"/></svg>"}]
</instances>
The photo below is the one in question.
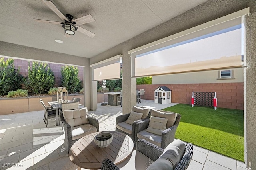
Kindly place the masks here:
<instances>
[{"instance_id":1,"label":"low tan planter wall below the shrubs, behind the dining set","mask_svg":"<svg viewBox=\"0 0 256 170\"><path fill-rule=\"evenodd\" d=\"M52 97L56 96L39 96L39 97L27 97L27 98L2 98L0 99L0 115L8 115L14 113L24 113L29 111L40 111L43 110L39 99L44 101L45 105L47 102L52 101ZM84 104L83 95L70 95L68 100L72 100L73 97L81 98L80 104Z\"/></svg>"}]
</instances>

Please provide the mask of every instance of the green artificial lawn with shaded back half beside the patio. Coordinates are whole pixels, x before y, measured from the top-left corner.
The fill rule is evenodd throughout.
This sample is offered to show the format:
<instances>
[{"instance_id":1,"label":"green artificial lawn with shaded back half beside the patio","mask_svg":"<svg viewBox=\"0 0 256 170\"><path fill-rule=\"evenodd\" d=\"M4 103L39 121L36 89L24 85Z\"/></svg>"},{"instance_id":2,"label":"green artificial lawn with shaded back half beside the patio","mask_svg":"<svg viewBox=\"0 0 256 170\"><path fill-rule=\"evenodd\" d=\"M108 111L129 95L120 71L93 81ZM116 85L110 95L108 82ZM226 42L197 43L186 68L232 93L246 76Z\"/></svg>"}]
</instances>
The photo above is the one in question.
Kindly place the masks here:
<instances>
[{"instance_id":1,"label":"green artificial lawn with shaded back half beside the patio","mask_svg":"<svg viewBox=\"0 0 256 170\"><path fill-rule=\"evenodd\" d=\"M175 138L244 162L243 110L188 104L163 110L181 114Z\"/></svg>"}]
</instances>

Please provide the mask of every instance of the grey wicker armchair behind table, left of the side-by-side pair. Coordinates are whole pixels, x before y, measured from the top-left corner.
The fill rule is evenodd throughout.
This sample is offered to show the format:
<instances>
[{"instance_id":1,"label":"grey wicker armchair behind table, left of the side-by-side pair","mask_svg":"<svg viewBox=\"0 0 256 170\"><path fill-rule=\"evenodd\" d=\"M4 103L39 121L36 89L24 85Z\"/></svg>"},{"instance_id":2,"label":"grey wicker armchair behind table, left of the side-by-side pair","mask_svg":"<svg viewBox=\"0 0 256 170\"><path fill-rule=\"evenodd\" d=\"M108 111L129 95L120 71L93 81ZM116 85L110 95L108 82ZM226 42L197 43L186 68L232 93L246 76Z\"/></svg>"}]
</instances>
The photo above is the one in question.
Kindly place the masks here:
<instances>
[{"instance_id":1,"label":"grey wicker armchair behind table, left of the side-by-side pair","mask_svg":"<svg viewBox=\"0 0 256 170\"><path fill-rule=\"evenodd\" d=\"M142 107L142 106L133 106L132 111L138 112L138 113L139 113L139 109L137 109L136 107L146 109L146 111L148 111L148 115L144 119L149 119L150 118L151 109L146 108L146 107ZM136 123L138 123L138 122L140 122L144 119L136 120L132 123L132 125L130 125L130 124L126 123L126 121L128 120L131 113L125 114L125 115L120 115L120 116L116 117L116 131L125 133L126 135L130 136L132 138L132 140L134 141L134 147L135 147L136 146L135 125L136 125Z\"/></svg>"}]
</instances>

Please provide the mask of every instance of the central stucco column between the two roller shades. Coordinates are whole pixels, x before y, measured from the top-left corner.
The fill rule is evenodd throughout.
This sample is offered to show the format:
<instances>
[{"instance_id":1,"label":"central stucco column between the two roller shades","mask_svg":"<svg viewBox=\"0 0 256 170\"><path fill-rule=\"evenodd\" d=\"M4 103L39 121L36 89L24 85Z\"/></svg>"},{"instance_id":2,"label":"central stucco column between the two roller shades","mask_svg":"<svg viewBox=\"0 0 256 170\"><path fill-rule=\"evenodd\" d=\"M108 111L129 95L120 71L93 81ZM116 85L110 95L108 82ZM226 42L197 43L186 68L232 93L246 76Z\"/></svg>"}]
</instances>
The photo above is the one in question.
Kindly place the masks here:
<instances>
[{"instance_id":1,"label":"central stucco column between the two roller shades","mask_svg":"<svg viewBox=\"0 0 256 170\"><path fill-rule=\"evenodd\" d=\"M136 105L136 78L131 78L131 57L123 53L123 73L122 73L122 90L123 90L123 114L131 112L132 106Z\"/></svg>"}]
</instances>

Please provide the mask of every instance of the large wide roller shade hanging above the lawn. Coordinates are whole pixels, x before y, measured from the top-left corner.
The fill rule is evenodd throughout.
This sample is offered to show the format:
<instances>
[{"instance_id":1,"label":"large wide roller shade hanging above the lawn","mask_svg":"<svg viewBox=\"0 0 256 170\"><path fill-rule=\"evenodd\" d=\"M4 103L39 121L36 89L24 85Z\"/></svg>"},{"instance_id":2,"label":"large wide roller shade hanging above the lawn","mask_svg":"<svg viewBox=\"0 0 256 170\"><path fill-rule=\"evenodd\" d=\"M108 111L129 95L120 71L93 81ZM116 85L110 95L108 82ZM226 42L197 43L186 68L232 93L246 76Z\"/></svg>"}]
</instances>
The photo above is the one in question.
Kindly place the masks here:
<instances>
[{"instance_id":1,"label":"large wide roller shade hanging above the lawn","mask_svg":"<svg viewBox=\"0 0 256 170\"><path fill-rule=\"evenodd\" d=\"M249 8L129 51L132 77L241 67L246 13Z\"/></svg>"}]
</instances>

